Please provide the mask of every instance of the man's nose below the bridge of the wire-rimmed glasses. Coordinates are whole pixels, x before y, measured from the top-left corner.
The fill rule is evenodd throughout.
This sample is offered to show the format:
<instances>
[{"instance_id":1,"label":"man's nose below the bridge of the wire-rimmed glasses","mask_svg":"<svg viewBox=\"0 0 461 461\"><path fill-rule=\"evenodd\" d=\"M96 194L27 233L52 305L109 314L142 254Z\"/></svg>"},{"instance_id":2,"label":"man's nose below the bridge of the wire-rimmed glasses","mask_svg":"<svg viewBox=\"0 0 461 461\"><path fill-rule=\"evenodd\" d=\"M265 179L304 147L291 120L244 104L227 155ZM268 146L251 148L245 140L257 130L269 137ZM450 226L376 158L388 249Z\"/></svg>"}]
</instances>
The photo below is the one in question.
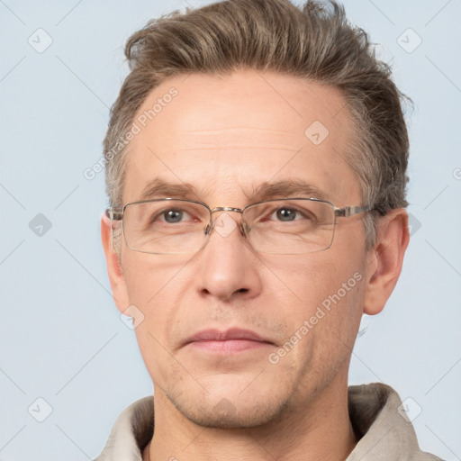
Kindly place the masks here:
<instances>
[{"instance_id":1,"label":"man's nose below the bridge of the wire-rimmed glasses","mask_svg":"<svg viewBox=\"0 0 461 461\"><path fill-rule=\"evenodd\" d=\"M210 237L197 255L197 289L221 301L257 296L261 263L230 212L215 216Z\"/></svg>"}]
</instances>

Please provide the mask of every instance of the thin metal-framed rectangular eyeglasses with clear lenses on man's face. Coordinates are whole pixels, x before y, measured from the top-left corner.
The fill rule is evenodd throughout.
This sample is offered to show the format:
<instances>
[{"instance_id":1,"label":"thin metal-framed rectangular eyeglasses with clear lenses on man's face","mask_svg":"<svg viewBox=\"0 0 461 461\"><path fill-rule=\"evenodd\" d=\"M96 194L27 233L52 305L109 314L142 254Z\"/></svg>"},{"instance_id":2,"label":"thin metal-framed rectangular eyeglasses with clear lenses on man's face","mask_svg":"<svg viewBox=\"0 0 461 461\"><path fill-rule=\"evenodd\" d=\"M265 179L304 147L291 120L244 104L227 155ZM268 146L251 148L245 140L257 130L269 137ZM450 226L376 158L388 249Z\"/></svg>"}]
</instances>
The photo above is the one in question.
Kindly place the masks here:
<instances>
[{"instance_id":1,"label":"thin metal-framed rectangular eyeglasses with clear lenses on man's face","mask_svg":"<svg viewBox=\"0 0 461 461\"><path fill-rule=\"evenodd\" d=\"M106 214L112 229L114 221L122 221L127 246L143 253L195 253L206 245L213 229L227 237L239 228L251 248L260 253L298 255L329 249L336 218L371 210L373 207L367 205L337 208L317 198L283 198L244 208L213 209L193 200L162 198L111 207ZM227 213L213 220L214 212L240 212L240 224Z\"/></svg>"}]
</instances>

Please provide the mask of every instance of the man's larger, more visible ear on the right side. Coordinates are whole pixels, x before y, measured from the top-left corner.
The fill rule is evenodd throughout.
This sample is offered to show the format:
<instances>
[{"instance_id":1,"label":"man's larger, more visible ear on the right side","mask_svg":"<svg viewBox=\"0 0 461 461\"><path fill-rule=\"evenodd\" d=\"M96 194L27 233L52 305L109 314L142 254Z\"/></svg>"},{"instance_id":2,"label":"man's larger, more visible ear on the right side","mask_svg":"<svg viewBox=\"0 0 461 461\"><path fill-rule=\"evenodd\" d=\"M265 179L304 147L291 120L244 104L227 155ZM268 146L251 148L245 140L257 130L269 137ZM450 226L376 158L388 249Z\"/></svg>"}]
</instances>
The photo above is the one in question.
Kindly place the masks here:
<instances>
[{"instance_id":1,"label":"man's larger, more visible ear on the right side","mask_svg":"<svg viewBox=\"0 0 461 461\"><path fill-rule=\"evenodd\" d=\"M388 212L376 223L375 247L370 249L364 312L383 311L402 272L403 256L408 247L408 214L403 208Z\"/></svg>"}]
</instances>

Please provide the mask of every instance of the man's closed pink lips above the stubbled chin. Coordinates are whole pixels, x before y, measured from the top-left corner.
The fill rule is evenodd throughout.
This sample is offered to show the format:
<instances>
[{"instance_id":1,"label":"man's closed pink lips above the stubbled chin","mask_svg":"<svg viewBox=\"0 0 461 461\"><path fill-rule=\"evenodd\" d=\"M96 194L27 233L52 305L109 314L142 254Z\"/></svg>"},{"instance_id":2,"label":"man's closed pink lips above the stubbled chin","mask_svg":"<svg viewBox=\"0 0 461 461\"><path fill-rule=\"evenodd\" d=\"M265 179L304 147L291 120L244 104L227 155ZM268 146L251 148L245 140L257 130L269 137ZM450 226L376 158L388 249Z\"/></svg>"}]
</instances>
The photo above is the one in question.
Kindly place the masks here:
<instances>
[{"instance_id":1,"label":"man's closed pink lips above the stubbled chin","mask_svg":"<svg viewBox=\"0 0 461 461\"><path fill-rule=\"evenodd\" d=\"M237 354L275 346L251 330L202 330L187 339L185 346L215 354Z\"/></svg>"}]
</instances>

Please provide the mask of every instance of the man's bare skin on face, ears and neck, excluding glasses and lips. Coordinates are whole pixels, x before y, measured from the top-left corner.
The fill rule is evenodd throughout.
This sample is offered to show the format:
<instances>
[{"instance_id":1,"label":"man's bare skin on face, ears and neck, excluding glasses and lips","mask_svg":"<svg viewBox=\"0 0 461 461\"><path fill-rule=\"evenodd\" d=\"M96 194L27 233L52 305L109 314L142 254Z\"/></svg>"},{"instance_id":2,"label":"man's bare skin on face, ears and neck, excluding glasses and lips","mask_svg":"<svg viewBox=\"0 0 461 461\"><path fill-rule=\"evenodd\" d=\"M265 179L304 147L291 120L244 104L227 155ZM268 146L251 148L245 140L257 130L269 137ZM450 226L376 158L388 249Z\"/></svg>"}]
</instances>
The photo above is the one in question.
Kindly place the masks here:
<instances>
[{"instance_id":1,"label":"man's bare skin on face, ears and neck, excluding glasses and lips","mask_svg":"<svg viewBox=\"0 0 461 461\"><path fill-rule=\"evenodd\" d=\"M363 204L345 161L353 132L339 90L251 70L178 76L155 88L140 113L172 86L176 98L131 140L122 203L160 178L194 185L191 198L211 207L242 208L254 202L253 187L282 180L315 185L339 207ZM329 130L317 146L304 135L314 121ZM240 222L238 213L229 218ZM124 241L118 255L104 218L102 236L118 309L134 304L144 315L136 335L155 388L144 459L348 456L357 443L348 419L351 351L362 313L381 312L400 275L404 210L379 221L368 250L362 215L339 218L330 249L307 255L257 253L239 230L213 230L203 249L179 256L140 253ZM269 355L356 273L360 282L271 364ZM185 345L197 331L234 327L267 343L233 354Z\"/></svg>"}]
</instances>

